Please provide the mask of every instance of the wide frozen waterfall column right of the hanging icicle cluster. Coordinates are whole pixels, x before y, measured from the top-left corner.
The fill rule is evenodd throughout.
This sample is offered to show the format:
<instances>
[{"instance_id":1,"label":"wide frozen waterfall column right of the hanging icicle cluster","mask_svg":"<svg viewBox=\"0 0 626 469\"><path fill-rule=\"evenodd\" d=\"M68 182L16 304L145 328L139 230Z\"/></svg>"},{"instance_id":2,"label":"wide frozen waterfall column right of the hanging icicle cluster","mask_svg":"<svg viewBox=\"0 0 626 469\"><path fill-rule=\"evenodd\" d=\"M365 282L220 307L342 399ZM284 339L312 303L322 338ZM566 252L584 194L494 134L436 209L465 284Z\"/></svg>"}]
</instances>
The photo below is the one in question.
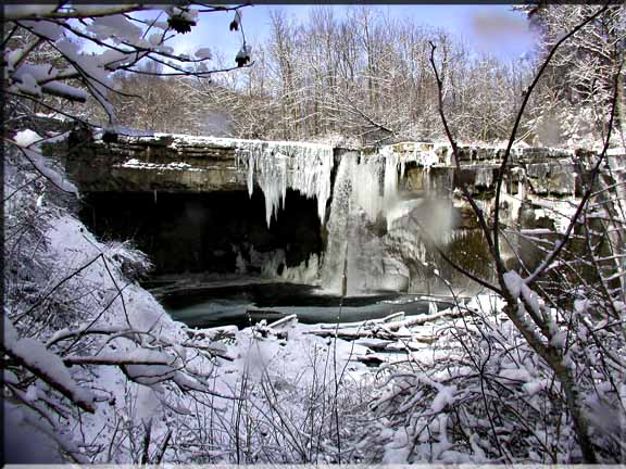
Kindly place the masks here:
<instances>
[{"instance_id":1,"label":"wide frozen waterfall column right of the hanging icicle cluster","mask_svg":"<svg viewBox=\"0 0 626 469\"><path fill-rule=\"evenodd\" d=\"M447 207L420 211L421 200L400 200L398 180L410 162L429 168L438 157L435 151L418 145L390 145L374 154L349 152L341 157L320 272L325 290L348 295L410 290L408 264L426 256L415 217L436 228L438 241L447 240L451 228ZM436 219L441 214L446 219Z\"/></svg>"}]
</instances>

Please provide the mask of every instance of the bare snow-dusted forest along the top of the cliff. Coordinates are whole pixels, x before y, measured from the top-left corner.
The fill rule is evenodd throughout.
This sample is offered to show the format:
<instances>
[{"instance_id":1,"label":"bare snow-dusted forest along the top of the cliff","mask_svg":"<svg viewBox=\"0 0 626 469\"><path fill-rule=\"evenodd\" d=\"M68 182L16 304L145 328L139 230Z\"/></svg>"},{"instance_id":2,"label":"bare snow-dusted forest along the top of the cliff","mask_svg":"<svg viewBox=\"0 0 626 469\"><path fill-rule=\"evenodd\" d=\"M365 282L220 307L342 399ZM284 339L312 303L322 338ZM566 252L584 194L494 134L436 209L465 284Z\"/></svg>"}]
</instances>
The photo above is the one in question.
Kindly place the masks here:
<instances>
[{"instance_id":1,"label":"bare snow-dusted forest along the top of the cliff","mask_svg":"<svg viewBox=\"0 0 626 469\"><path fill-rule=\"evenodd\" d=\"M534 15L543 51L583 14ZM563 45L531 97L519 140L576 144L601 135L594 113L610 101L610 45L619 36L612 24L618 17L606 22ZM597 43L602 29L613 38ZM335 17L333 10L316 7L300 24L274 11L270 38L255 45L253 66L215 74L211 80L120 74L122 90L141 89L147 98L116 96L113 105L125 125L164 132L221 131L273 140L335 137L360 143L443 138L430 66L433 40L446 80L446 111L458 138L506 139L546 52L505 62L473 51L448 30L391 20L373 8ZM222 59L220 66L227 62ZM165 110L172 105L181 119L167 118Z\"/></svg>"}]
</instances>

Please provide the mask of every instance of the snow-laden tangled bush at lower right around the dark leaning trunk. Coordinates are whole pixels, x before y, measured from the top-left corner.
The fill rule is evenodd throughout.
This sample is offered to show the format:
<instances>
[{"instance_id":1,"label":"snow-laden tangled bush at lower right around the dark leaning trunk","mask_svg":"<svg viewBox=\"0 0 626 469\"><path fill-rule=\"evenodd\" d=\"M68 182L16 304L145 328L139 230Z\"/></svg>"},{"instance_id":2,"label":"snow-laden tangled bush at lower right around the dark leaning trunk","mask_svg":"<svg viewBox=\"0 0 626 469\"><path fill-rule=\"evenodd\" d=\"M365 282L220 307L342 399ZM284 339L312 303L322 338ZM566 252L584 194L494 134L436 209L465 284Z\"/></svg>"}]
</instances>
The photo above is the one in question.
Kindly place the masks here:
<instances>
[{"instance_id":1,"label":"snow-laden tangled bush at lower right around the dark leaning trunk","mask_svg":"<svg viewBox=\"0 0 626 469\"><path fill-rule=\"evenodd\" d=\"M458 306L464 314L438 328L430 356L415 355L390 370L367 439L380 448L377 458L383 462L581 460L566 396L553 370L502 313L502 302L484 300ZM619 328L590 320L589 306L578 302L574 312L547 313L569 327L555 342L562 341L559 346L566 350L565 359L585 396L599 460L618 462L625 449L626 350Z\"/></svg>"}]
</instances>

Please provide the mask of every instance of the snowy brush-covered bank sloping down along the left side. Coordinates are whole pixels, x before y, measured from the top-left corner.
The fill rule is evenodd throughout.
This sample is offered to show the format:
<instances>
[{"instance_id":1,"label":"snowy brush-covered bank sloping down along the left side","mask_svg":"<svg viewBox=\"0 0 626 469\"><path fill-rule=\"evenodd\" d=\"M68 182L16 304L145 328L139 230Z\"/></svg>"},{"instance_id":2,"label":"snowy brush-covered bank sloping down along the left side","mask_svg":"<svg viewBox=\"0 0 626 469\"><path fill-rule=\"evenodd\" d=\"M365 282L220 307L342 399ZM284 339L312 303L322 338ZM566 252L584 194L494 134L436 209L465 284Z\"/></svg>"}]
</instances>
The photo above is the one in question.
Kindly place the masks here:
<instances>
[{"instance_id":1,"label":"snowy brush-covered bank sloping down along the left side","mask_svg":"<svg viewBox=\"0 0 626 469\"><path fill-rule=\"evenodd\" d=\"M71 460L167 458L190 406L211 407L223 347L173 322L126 275L145 255L99 242L15 149L5 176L7 408Z\"/></svg>"}]
</instances>

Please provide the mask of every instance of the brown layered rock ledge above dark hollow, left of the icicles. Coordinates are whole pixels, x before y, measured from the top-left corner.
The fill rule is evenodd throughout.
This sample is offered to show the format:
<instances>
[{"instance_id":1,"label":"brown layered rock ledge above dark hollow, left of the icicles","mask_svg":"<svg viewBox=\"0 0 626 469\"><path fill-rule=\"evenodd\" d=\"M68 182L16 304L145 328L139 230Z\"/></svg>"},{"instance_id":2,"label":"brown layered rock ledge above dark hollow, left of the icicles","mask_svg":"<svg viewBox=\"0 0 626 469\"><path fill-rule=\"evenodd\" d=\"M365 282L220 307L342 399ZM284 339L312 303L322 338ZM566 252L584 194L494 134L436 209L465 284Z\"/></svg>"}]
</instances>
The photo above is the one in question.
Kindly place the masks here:
<instances>
[{"instance_id":1,"label":"brown layered rock ledge above dark hollow, left of the icicles","mask_svg":"<svg viewBox=\"0 0 626 469\"><path fill-rule=\"evenodd\" d=\"M233 142L172 136L104 142L85 132L70 139L66 170L83 192L212 192L246 189Z\"/></svg>"}]
</instances>

